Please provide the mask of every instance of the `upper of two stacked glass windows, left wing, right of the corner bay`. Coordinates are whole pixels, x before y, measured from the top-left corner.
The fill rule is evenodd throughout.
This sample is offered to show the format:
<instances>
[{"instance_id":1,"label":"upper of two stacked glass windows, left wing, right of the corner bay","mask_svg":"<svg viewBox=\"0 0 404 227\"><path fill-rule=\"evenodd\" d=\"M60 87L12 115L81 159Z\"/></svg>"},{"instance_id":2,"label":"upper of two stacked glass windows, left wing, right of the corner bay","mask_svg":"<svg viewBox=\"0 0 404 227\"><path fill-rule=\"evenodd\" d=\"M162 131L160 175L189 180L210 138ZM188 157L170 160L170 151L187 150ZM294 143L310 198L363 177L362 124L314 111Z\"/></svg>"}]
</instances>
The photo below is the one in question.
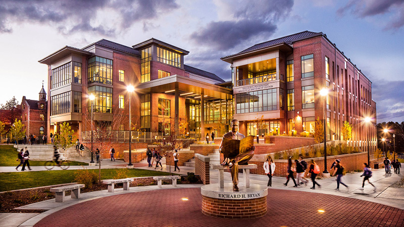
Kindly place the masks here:
<instances>
[{"instance_id":1,"label":"upper of two stacked glass windows, left wing, right of the corner bay","mask_svg":"<svg viewBox=\"0 0 404 227\"><path fill-rule=\"evenodd\" d=\"M87 63L88 84L97 82L112 85L112 60L93 56Z\"/></svg>"}]
</instances>

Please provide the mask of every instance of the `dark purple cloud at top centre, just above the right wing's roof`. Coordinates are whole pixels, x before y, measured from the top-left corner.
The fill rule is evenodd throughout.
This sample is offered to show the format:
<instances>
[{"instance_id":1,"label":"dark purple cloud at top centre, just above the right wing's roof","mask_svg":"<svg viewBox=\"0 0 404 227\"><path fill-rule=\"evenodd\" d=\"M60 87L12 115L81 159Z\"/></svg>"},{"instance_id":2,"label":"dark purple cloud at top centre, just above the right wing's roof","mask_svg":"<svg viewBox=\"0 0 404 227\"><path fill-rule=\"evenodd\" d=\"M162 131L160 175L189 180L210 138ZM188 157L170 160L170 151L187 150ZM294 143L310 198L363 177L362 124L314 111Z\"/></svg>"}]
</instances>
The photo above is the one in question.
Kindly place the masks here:
<instances>
[{"instance_id":1,"label":"dark purple cloud at top centre, just above the right wing's roof","mask_svg":"<svg viewBox=\"0 0 404 227\"><path fill-rule=\"evenodd\" d=\"M232 8L232 20L211 21L199 28L190 35L195 43L228 50L251 38L269 37L277 29L276 23L286 17L293 6L292 0L226 2L218 5ZM229 12L228 9L221 11Z\"/></svg>"}]
</instances>

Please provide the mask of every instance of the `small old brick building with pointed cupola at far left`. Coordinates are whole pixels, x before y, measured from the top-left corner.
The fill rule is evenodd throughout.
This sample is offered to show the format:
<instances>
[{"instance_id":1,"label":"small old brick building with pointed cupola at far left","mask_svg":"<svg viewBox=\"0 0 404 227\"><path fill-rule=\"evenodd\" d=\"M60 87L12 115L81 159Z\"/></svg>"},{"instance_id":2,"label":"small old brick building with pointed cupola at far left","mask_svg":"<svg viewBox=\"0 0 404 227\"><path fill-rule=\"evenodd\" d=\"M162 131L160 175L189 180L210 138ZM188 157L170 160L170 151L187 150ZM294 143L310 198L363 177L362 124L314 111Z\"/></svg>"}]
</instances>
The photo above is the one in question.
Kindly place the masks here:
<instances>
[{"instance_id":1,"label":"small old brick building with pointed cupola at far left","mask_svg":"<svg viewBox=\"0 0 404 227\"><path fill-rule=\"evenodd\" d=\"M21 123L24 124L27 137L36 135L39 142L42 142L40 135L47 135L47 101L46 91L43 88L39 91L39 100L26 99L22 97L21 104Z\"/></svg>"}]
</instances>

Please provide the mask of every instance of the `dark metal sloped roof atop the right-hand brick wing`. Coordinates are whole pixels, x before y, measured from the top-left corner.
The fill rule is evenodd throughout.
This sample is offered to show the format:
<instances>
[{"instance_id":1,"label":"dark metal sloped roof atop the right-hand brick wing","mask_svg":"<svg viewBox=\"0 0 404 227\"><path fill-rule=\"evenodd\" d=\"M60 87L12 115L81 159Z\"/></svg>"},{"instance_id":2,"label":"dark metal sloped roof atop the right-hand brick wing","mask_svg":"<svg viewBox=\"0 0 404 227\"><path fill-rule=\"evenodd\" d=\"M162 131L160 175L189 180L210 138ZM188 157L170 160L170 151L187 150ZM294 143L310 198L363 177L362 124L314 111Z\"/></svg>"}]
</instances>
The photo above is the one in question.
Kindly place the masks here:
<instances>
[{"instance_id":1,"label":"dark metal sloped roof atop the right-hand brick wing","mask_svg":"<svg viewBox=\"0 0 404 227\"><path fill-rule=\"evenodd\" d=\"M322 32L303 31L303 32L292 34L292 35L287 35L287 36L280 37L277 39L272 39L272 40L269 40L266 42L255 44L254 46L250 46L236 54L225 56L222 59L229 58L230 56L235 56L235 55L238 55L241 53L246 53L246 52L274 46L274 45L281 44L281 43L286 43L286 44L290 45L294 41L306 39L306 38L310 38L310 37L314 37L314 36L318 36L318 35L322 35L322 34L323 34Z\"/></svg>"}]
</instances>

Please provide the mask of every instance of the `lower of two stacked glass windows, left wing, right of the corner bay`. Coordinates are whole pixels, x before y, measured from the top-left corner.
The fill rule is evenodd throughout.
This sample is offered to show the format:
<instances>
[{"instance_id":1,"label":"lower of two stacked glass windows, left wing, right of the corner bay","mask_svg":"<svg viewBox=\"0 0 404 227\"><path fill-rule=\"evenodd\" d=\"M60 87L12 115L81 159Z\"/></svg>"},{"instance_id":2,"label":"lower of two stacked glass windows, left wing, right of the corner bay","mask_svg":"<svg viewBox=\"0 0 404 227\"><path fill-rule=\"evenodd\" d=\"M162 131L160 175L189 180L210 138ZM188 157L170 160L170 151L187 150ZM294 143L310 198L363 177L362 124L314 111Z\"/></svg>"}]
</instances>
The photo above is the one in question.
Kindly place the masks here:
<instances>
[{"instance_id":1,"label":"lower of two stacked glass windows, left wing, right of the corner bay","mask_svg":"<svg viewBox=\"0 0 404 227\"><path fill-rule=\"evenodd\" d=\"M91 86L88 88L88 93L95 96L93 111L112 113L112 88L102 86ZM89 103L91 108L91 103Z\"/></svg>"}]
</instances>

